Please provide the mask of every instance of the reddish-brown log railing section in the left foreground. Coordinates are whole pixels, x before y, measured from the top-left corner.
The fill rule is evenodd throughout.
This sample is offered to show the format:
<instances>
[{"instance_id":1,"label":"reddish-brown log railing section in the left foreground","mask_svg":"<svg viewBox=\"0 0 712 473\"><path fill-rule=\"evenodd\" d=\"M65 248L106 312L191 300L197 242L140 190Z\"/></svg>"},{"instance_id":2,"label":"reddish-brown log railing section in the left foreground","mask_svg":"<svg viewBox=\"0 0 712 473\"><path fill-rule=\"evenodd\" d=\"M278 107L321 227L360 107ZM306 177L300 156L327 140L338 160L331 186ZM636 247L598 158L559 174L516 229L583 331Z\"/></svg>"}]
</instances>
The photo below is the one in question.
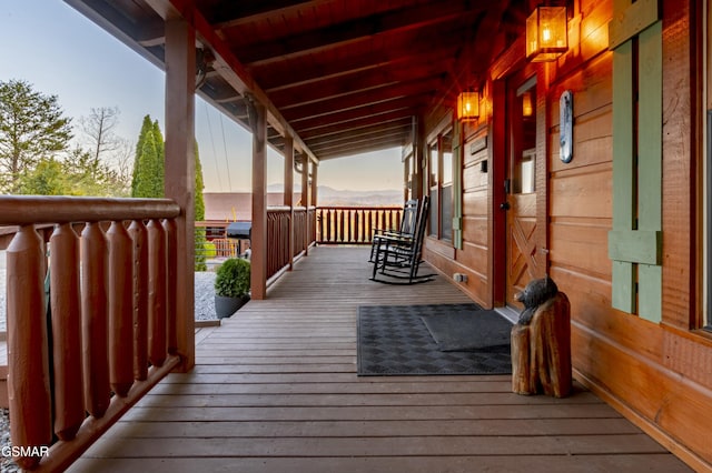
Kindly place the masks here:
<instances>
[{"instance_id":1,"label":"reddish-brown log railing section in the left foreground","mask_svg":"<svg viewBox=\"0 0 712 473\"><path fill-rule=\"evenodd\" d=\"M0 197L0 225L18 225L7 343L23 469L63 470L180 363L179 213L170 200Z\"/></svg>"}]
</instances>

